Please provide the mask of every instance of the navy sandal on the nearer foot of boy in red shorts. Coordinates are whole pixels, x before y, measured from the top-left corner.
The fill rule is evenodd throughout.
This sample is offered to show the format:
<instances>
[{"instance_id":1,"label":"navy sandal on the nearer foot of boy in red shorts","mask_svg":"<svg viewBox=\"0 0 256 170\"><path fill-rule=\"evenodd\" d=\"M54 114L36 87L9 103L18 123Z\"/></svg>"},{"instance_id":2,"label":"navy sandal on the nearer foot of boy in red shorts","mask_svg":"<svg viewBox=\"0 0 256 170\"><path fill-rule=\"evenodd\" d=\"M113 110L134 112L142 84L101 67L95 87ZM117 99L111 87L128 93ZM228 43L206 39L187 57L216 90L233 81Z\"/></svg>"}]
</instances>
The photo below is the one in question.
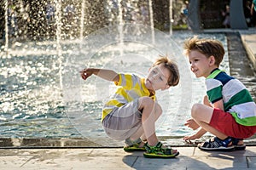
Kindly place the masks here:
<instances>
[{"instance_id":1,"label":"navy sandal on the nearer foot of boy in red shorts","mask_svg":"<svg viewBox=\"0 0 256 170\"><path fill-rule=\"evenodd\" d=\"M198 144L198 148L201 150L207 151L231 151L235 150L234 145L229 145L232 142L232 138L228 137L224 140L218 139L218 137L214 137L212 141L209 139L208 142L204 142L202 145Z\"/></svg>"}]
</instances>

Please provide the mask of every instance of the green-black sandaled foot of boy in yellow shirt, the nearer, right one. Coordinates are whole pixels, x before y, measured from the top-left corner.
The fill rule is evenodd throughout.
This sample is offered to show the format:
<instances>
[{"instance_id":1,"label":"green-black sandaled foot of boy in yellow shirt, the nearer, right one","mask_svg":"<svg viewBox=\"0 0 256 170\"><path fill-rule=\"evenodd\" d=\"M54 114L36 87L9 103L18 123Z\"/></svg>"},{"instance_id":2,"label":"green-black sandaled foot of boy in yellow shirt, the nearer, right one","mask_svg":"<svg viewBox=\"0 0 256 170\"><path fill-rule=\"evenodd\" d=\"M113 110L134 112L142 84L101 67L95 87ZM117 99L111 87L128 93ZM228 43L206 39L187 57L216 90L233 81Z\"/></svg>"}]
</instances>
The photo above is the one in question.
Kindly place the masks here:
<instances>
[{"instance_id":1,"label":"green-black sandaled foot of boy in yellow shirt, the nearer, right one","mask_svg":"<svg viewBox=\"0 0 256 170\"><path fill-rule=\"evenodd\" d=\"M172 150L170 146L163 146L160 142L155 146L146 143L145 148L146 152L143 155L148 158L173 158L179 154L177 150Z\"/></svg>"}]
</instances>

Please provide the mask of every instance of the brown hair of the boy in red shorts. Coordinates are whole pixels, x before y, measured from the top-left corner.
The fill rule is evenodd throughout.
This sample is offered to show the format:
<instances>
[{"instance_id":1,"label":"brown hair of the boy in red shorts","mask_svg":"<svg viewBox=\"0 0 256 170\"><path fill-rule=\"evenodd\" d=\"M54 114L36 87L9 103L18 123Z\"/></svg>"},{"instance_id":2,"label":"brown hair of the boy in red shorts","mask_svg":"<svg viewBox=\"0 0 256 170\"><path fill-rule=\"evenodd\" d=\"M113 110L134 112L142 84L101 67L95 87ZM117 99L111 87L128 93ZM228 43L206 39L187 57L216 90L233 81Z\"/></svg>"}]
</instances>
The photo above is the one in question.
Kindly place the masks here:
<instances>
[{"instance_id":1,"label":"brown hair of the boy in red shorts","mask_svg":"<svg viewBox=\"0 0 256 170\"><path fill-rule=\"evenodd\" d=\"M223 44L213 39L192 37L184 42L183 48L186 55L189 55L192 50L197 50L201 54L206 55L207 58L213 56L215 58L215 65L217 66L220 65L225 54Z\"/></svg>"}]
</instances>

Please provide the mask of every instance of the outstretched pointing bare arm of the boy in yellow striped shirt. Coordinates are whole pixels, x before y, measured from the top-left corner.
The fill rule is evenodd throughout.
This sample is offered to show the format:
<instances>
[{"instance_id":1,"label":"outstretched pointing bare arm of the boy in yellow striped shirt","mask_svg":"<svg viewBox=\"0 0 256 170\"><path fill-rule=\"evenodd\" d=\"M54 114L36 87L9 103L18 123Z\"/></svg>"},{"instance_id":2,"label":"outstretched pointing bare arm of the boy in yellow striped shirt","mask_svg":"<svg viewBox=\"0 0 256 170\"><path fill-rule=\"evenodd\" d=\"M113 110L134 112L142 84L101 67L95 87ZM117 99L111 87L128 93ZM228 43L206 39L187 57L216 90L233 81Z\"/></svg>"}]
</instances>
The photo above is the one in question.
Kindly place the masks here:
<instances>
[{"instance_id":1,"label":"outstretched pointing bare arm of the boy in yellow striped shirt","mask_svg":"<svg viewBox=\"0 0 256 170\"><path fill-rule=\"evenodd\" d=\"M87 69L84 69L83 71L80 71L80 75L84 80L86 80L88 77L90 77L93 74L96 75L97 77L101 77L111 82L119 82L119 74L112 70L87 68Z\"/></svg>"}]
</instances>

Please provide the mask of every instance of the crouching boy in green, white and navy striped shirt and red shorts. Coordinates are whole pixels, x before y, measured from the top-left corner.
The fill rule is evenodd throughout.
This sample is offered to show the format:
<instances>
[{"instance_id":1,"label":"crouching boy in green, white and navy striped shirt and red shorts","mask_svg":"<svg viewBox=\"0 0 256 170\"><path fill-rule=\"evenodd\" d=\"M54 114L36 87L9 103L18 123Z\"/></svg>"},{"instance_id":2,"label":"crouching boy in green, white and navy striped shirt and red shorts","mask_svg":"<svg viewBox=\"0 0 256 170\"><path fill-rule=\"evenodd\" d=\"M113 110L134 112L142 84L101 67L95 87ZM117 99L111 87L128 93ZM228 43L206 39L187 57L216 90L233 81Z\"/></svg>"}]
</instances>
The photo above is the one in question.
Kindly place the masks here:
<instances>
[{"instance_id":1,"label":"crouching boy in green, white and navy striped shirt and red shorts","mask_svg":"<svg viewBox=\"0 0 256 170\"><path fill-rule=\"evenodd\" d=\"M243 139L256 133L256 105L239 80L218 69L224 57L222 43L193 37L184 43L184 52L195 77L205 77L207 85L204 104L193 105L192 119L184 124L201 129L184 140L209 132L216 137L199 144L201 150L244 150Z\"/></svg>"}]
</instances>

